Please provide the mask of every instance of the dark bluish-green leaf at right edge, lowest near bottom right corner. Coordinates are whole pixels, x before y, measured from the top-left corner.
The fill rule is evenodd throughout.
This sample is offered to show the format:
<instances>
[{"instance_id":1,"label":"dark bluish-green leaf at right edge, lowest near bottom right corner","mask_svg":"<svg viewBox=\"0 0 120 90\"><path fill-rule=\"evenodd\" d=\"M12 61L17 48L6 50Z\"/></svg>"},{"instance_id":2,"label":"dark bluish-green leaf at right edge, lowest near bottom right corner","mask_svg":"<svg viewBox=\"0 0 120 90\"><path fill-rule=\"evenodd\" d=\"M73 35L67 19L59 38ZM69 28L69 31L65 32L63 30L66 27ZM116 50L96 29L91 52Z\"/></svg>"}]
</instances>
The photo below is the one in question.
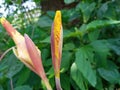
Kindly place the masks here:
<instances>
[{"instance_id":1,"label":"dark bluish-green leaf at right edge, lowest near bottom right corner","mask_svg":"<svg viewBox=\"0 0 120 90\"><path fill-rule=\"evenodd\" d=\"M110 83L118 83L120 80L120 73L117 69L107 70L104 68L99 68L98 72L102 78Z\"/></svg>"}]
</instances>

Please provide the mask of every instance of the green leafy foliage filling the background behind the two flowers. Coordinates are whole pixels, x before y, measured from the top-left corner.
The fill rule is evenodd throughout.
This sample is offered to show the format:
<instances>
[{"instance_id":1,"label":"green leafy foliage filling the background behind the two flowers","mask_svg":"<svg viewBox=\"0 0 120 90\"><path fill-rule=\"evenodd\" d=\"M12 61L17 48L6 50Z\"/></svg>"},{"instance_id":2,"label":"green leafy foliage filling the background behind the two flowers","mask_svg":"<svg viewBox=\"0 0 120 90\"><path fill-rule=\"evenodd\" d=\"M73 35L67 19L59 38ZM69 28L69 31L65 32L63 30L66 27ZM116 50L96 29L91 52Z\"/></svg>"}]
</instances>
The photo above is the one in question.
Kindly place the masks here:
<instances>
[{"instance_id":1,"label":"green leafy foliage filling the background behind the two flowers","mask_svg":"<svg viewBox=\"0 0 120 90\"><path fill-rule=\"evenodd\" d=\"M10 5L11 0L5 0ZM37 7L21 10L18 18L9 14L7 19L22 34L27 33L41 50L43 66L55 89L50 51L50 32L55 11L40 11L42 0L34 0ZM12 2L20 10L22 0ZM119 0L64 0L72 8L63 8L63 55L61 84L63 90L117 90L120 87L120 2ZM54 5L53 5L54 6ZM40 8L39 8L40 9ZM31 14L32 12L32 14ZM28 13L30 18L25 18ZM0 55L14 46L0 26ZM0 61L0 90L45 90L40 78L26 68L13 52Z\"/></svg>"}]
</instances>

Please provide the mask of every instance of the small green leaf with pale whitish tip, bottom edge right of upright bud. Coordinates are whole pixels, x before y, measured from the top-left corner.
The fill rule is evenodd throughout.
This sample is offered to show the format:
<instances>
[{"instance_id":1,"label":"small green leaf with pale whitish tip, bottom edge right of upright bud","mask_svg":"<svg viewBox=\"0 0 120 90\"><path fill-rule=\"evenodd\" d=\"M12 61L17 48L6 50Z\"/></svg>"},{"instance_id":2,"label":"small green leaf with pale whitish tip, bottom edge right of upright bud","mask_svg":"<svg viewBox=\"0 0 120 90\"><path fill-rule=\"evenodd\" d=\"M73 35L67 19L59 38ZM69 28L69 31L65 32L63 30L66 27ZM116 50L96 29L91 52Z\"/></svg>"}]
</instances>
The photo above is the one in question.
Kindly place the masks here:
<instances>
[{"instance_id":1,"label":"small green leaf with pale whitish tip, bottom edge right of upright bud","mask_svg":"<svg viewBox=\"0 0 120 90\"><path fill-rule=\"evenodd\" d=\"M81 90L86 90L84 85L85 80L75 63L71 66L71 77Z\"/></svg>"}]
</instances>

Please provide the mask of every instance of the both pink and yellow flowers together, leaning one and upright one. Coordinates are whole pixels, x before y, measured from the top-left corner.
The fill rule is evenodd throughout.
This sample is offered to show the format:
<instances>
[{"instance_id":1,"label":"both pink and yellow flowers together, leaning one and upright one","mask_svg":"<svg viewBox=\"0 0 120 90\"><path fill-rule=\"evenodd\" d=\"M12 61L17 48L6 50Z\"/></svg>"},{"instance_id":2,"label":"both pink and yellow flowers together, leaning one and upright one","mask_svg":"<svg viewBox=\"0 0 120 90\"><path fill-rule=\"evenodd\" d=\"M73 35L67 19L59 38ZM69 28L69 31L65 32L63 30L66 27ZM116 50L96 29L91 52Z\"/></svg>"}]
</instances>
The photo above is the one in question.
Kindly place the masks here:
<instances>
[{"instance_id":1,"label":"both pink and yellow flowers together, leaning one and upright one","mask_svg":"<svg viewBox=\"0 0 120 90\"><path fill-rule=\"evenodd\" d=\"M23 62L29 69L41 77L47 90L52 90L52 87L46 77L41 58L41 51L33 43L27 34L21 35L13 26L5 19L1 18L1 24L6 29L10 37L16 44L13 48L15 56ZM62 21L61 12L56 11L54 22L51 28L51 53L52 62L55 72L55 81L57 90L62 90L60 85L60 63L62 56Z\"/></svg>"}]
</instances>

